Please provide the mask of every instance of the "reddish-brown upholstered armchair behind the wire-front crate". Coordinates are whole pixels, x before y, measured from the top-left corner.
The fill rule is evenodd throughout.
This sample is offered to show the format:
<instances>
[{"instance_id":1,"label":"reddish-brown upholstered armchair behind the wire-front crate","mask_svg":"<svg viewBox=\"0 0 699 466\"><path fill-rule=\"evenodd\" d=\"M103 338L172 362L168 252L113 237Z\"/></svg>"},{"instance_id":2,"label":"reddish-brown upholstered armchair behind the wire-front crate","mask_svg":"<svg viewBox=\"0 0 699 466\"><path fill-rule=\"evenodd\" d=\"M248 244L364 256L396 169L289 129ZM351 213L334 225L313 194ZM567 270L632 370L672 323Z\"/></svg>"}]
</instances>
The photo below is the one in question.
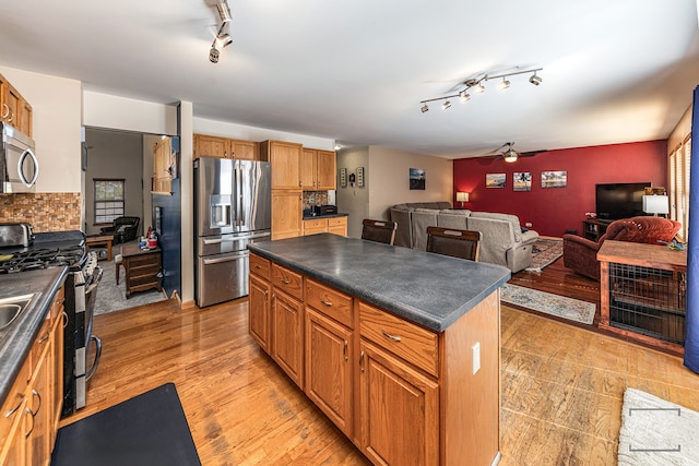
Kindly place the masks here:
<instances>
[{"instance_id":1,"label":"reddish-brown upholstered armchair behind the wire-front crate","mask_svg":"<svg viewBox=\"0 0 699 466\"><path fill-rule=\"evenodd\" d=\"M671 241L680 227L679 222L668 218L632 217L612 222L597 242L577 235L564 235L564 264L577 274L599 280L597 251L607 239L661 244L659 241Z\"/></svg>"}]
</instances>

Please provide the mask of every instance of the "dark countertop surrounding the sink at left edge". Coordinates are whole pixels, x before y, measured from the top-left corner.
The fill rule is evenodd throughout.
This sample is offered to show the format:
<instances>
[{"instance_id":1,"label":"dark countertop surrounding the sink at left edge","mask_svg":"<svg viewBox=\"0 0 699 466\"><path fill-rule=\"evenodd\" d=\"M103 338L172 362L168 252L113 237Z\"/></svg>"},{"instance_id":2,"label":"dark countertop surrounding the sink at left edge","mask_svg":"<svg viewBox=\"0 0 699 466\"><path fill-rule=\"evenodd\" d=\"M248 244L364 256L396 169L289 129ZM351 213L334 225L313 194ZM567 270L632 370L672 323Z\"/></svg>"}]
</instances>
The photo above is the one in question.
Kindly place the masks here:
<instances>
[{"instance_id":1,"label":"dark countertop surrounding the sink at left edge","mask_svg":"<svg viewBox=\"0 0 699 466\"><path fill-rule=\"evenodd\" d=\"M63 266L0 275L0 299L36 294L16 320L0 330L0 405L8 396L67 273L68 267Z\"/></svg>"}]
</instances>

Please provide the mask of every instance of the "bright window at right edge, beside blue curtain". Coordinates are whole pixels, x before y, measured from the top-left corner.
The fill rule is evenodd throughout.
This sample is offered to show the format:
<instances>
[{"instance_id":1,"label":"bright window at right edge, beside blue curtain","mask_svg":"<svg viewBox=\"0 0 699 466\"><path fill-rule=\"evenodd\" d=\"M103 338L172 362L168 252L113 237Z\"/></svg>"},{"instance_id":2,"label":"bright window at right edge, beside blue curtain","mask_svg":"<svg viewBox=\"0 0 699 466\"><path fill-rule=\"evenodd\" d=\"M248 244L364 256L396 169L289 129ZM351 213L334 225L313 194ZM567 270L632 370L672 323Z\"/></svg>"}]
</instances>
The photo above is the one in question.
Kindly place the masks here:
<instances>
[{"instance_id":1,"label":"bright window at right edge, beside blue curtain","mask_svg":"<svg viewBox=\"0 0 699 466\"><path fill-rule=\"evenodd\" d=\"M691 135L670 154L670 218L682 224L677 235L687 241L689 227L689 166Z\"/></svg>"}]
</instances>

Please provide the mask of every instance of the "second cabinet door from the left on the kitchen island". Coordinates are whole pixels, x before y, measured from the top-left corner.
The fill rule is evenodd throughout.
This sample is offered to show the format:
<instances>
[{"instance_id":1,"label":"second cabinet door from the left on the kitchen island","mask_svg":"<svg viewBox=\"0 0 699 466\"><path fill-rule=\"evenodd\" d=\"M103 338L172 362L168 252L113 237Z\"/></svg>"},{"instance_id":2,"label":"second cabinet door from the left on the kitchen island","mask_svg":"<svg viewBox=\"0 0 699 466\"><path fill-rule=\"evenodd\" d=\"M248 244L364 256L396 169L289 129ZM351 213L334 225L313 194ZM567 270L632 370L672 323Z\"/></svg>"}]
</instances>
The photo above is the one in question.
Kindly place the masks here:
<instances>
[{"instance_id":1,"label":"second cabinet door from the left on the kitchen island","mask_svg":"<svg viewBox=\"0 0 699 466\"><path fill-rule=\"evenodd\" d=\"M272 358L304 389L304 306L274 288L272 297Z\"/></svg>"}]
</instances>

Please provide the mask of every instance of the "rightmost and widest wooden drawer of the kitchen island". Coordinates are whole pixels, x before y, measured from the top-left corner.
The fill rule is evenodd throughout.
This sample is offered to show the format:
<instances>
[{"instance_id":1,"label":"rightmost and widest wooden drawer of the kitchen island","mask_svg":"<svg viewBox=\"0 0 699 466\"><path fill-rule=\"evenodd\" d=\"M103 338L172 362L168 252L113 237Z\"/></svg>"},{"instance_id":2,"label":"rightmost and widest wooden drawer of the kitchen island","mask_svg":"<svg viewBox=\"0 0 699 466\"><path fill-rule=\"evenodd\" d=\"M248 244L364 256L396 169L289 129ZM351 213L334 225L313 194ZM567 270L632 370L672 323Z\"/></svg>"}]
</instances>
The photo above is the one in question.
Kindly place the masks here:
<instances>
[{"instance_id":1,"label":"rightmost and widest wooden drawer of the kitchen island","mask_svg":"<svg viewBox=\"0 0 699 466\"><path fill-rule=\"evenodd\" d=\"M359 302L359 334L428 373L439 375L438 335Z\"/></svg>"}]
</instances>

